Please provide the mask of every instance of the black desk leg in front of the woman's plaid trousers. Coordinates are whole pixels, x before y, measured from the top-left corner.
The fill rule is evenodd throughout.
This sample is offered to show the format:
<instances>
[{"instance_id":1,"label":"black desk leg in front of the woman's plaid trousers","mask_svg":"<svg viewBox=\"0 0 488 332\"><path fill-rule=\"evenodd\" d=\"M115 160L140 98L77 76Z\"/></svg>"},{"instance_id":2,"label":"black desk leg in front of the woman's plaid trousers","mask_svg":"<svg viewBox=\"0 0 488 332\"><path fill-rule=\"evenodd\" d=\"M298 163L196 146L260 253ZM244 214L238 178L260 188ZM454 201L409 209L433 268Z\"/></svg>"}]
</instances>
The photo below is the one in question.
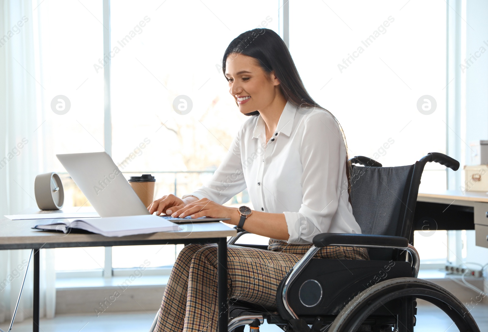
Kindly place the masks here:
<instances>
[{"instance_id":1,"label":"black desk leg in front of the woman's plaid trousers","mask_svg":"<svg viewBox=\"0 0 488 332\"><path fill-rule=\"evenodd\" d=\"M219 332L227 332L228 311L227 304L227 238L220 238L218 243L217 268L218 301L219 301Z\"/></svg>"}]
</instances>

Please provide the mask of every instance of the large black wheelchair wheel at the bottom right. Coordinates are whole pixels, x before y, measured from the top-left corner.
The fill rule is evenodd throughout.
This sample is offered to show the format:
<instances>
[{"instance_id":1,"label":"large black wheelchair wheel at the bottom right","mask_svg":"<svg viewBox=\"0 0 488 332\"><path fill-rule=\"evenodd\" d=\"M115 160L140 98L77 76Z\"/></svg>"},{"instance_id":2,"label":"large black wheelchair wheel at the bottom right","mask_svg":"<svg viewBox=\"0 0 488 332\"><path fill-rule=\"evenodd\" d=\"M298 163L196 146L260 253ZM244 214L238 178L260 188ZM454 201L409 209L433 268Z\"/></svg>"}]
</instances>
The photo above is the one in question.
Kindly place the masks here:
<instances>
[{"instance_id":1,"label":"large black wheelchair wheel at the bottom right","mask_svg":"<svg viewBox=\"0 0 488 332\"><path fill-rule=\"evenodd\" d=\"M408 297L434 304L452 319L459 331L480 331L468 309L446 289L423 279L395 278L379 282L356 295L337 315L327 332L358 331L362 322L378 308L391 300ZM411 313L407 319L413 321L413 310L407 312ZM402 322L405 317L399 317L395 331L413 330L407 327L408 322Z\"/></svg>"}]
</instances>

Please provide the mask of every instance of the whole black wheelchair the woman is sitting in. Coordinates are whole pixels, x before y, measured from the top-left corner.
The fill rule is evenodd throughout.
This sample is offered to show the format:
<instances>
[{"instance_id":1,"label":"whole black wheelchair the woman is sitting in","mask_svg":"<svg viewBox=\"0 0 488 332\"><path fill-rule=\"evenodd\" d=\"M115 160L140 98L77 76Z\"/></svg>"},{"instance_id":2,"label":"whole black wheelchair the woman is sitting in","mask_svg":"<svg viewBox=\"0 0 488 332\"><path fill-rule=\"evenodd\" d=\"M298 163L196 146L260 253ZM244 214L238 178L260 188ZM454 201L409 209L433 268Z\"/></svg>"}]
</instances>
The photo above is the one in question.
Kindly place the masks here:
<instances>
[{"instance_id":1,"label":"whole black wheelchair the woman is sitting in","mask_svg":"<svg viewBox=\"0 0 488 332\"><path fill-rule=\"evenodd\" d=\"M456 171L459 162L436 152L407 166L383 167L365 156L349 161L351 205L362 234L315 235L313 246L279 284L276 308L230 299L228 331L243 332L245 325L259 331L266 320L285 332L413 332L416 299L423 299L445 312L459 331L479 332L461 301L417 278L420 258L411 245L424 166L433 161ZM267 250L265 245L235 244L246 233L227 244ZM370 260L314 258L325 246L365 247Z\"/></svg>"}]
</instances>

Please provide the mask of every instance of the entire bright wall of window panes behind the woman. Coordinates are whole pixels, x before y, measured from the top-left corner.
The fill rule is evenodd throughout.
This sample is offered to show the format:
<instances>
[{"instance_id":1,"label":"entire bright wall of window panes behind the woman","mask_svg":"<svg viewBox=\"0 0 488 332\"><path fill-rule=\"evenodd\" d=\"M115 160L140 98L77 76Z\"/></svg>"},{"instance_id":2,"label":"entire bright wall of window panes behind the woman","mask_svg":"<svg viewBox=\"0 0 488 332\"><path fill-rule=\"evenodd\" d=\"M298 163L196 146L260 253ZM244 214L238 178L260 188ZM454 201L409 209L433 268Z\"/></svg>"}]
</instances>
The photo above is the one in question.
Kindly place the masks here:
<instances>
[{"instance_id":1,"label":"entire bright wall of window panes behind the woman","mask_svg":"<svg viewBox=\"0 0 488 332\"><path fill-rule=\"evenodd\" d=\"M109 150L124 176L153 174L156 197L193 191L218 167L246 119L228 93L224 50L246 30L262 26L278 32L282 2L250 0L243 11L242 2L224 0L111 1L111 52L103 54L108 27L102 0L43 1L34 19L45 88L46 121L40 128L47 142L41 156L45 168L64 172L55 157L59 153L103 151L108 126ZM289 48L305 88L341 123L349 157L370 156L385 166L446 152L446 4L402 6L290 1ZM111 124L104 124L103 68L109 61ZM55 97L69 99L66 114L52 111ZM184 114L173 106L182 98L192 105ZM425 108L434 103L435 111L427 115ZM65 204L89 206L64 176ZM445 188L445 168L428 163L421 191ZM241 203L250 204L245 191L226 204ZM420 235L415 239L422 246L427 238ZM428 238L445 240L442 232ZM107 262L111 268L132 268L147 257L151 267L168 266L179 250L174 245L57 249L56 269L101 273ZM430 252L429 259L442 260L446 253Z\"/></svg>"}]
</instances>

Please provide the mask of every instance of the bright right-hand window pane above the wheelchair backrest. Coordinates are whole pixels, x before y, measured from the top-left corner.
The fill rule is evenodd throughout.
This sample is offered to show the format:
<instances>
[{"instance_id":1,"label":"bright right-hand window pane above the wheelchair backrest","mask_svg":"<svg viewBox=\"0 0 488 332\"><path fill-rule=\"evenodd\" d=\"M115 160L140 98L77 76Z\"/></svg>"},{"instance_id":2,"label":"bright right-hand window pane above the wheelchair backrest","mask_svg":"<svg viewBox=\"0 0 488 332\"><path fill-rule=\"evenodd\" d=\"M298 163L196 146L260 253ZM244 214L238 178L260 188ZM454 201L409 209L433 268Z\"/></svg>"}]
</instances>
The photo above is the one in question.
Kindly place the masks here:
<instances>
[{"instance_id":1,"label":"bright right-hand window pane above the wheelchair backrest","mask_svg":"<svg viewBox=\"0 0 488 332\"><path fill-rule=\"evenodd\" d=\"M291 1L289 46L349 157L402 166L446 153L445 2ZM445 189L446 168L427 163L420 191ZM414 233L422 259L445 262L446 231L425 235Z\"/></svg>"}]
</instances>

